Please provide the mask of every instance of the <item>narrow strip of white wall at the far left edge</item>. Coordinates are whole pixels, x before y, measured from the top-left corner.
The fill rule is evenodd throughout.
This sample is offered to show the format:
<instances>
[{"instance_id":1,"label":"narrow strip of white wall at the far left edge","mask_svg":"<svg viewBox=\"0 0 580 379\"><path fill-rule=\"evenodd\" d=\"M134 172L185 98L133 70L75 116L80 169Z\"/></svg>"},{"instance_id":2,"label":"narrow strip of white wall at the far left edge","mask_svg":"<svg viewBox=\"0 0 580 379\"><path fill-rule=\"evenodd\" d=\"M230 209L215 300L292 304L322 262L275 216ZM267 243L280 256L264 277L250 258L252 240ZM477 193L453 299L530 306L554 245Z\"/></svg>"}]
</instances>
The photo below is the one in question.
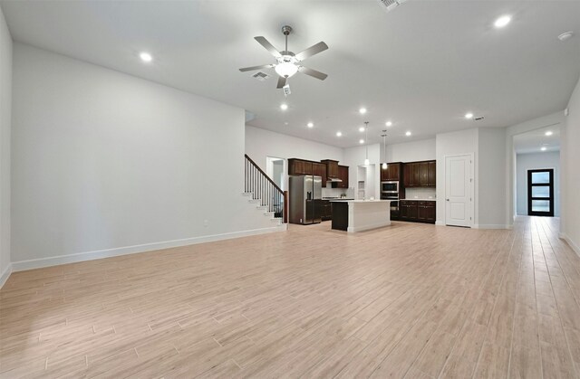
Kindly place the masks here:
<instances>
[{"instance_id":1,"label":"narrow strip of white wall at the far left edge","mask_svg":"<svg viewBox=\"0 0 580 379\"><path fill-rule=\"evenodd\" d=\"M12 37L0 8L0 287L10 274Z\"/></svg>"}]
</instances>

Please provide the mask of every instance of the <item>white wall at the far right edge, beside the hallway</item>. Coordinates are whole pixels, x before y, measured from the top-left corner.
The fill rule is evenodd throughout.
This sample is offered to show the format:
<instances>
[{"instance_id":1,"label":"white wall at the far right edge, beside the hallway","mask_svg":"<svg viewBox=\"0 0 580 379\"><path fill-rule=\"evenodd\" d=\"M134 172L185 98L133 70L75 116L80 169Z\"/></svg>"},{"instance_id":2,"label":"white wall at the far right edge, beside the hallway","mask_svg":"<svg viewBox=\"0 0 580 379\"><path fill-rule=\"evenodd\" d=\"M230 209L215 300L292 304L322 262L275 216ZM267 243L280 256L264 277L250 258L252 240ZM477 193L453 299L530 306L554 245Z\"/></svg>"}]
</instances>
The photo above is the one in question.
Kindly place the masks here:
<instances>
[{"instance_id":1,"label":"white wall at the far right edge, beside the hallway","mask_svg":"<svg viewBox=\"0 0 580 379\"><path fill-rule=\"evenodd\" d=\"M564 219L563 236L580 255L580 174L578 163L580 162L580 81L568 102L568 117L565 119L564 136L562 137L562 151L565 155L562 167L562 213Z\"/></svg>"}]
</instances>

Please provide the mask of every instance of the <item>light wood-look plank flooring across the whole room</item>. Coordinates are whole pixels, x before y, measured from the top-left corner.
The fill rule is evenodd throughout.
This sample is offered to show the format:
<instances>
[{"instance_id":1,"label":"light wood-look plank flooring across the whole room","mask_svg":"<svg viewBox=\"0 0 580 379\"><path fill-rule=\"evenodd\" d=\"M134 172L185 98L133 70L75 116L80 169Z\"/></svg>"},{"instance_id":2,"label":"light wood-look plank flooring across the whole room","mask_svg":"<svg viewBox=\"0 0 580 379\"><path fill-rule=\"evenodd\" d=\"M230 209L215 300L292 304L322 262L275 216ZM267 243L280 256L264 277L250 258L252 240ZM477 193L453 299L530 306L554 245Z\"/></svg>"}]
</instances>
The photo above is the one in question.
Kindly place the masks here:
<instances>
[{"instance_id":1,"label":"light wood-look plank flooring across the whole room","mask_svg":"<svg viewBox=\"0 0 580 379\"><path fill-rule=\"evenodd\" d=\"M288 232L15 272L0 376L572 378L558 220Z\"/></svg>"}]
</instances>

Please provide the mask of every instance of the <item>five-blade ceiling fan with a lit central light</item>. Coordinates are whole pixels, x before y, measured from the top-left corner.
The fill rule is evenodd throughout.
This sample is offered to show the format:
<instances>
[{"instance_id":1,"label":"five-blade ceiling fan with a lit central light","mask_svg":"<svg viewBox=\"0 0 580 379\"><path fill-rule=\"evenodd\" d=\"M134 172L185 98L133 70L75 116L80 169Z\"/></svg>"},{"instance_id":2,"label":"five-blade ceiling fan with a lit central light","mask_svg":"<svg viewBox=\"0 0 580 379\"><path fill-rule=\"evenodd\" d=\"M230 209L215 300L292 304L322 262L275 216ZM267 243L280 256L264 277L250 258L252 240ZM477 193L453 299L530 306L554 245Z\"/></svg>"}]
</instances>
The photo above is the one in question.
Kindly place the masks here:
<instances>
[{"instance_id":1,"label":"five-blade ceiling fan with a lit central light","mask_svg":"<svg viewBox=\"0 0 580 379\"><path fill-rule=\"evenodd\" d=\"M324 52L324 50L328 49L328 45L324 42L316 43L313 46L310 46L308 49L304 50L304 52L298 52L295 54L294 52L288 51L288 34L292 32L292 27L285 25L282 27L282 33L285 35L285 50L282 52L278 52L272 43L269 43L266 38L259 36L254 37L254 39L264 46L268 52L274 55L276 62L272 64L263 64L261 66L253 66L253 67L245 67L243 69L239 69L239 71L255 71L260 69L274 69L275 72L279 75L278 84L276 88L283 88L286 85L286 81L292 75L294 75L297 71L300 71L306 75L310 75L316 79L320 79L324 81L328 75L323 72L316 71L313 69L309 69L304 67L301 63L304 59L313 56L319 52Z\"/></svg>"}]
</instances>

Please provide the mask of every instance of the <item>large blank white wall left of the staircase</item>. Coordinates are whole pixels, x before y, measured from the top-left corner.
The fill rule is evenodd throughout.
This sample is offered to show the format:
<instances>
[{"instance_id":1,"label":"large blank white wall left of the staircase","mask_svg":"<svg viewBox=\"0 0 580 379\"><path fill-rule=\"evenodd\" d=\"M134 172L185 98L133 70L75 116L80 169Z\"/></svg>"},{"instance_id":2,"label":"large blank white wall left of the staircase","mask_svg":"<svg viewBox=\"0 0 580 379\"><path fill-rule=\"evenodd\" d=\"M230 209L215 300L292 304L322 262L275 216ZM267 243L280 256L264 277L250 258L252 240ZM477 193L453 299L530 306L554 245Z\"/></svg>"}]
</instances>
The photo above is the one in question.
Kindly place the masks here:
<instances>
[{"instance_id":1,"label":"large blank white wall left of the staircase","mask_svg":"<svg viewBox=\"0 0 580 379\"><path fill-rule=\"evenodd\" d=\"M21 43L13 97L13 263L251 229L244 109Z\"/></svg>"}]
</instances>

